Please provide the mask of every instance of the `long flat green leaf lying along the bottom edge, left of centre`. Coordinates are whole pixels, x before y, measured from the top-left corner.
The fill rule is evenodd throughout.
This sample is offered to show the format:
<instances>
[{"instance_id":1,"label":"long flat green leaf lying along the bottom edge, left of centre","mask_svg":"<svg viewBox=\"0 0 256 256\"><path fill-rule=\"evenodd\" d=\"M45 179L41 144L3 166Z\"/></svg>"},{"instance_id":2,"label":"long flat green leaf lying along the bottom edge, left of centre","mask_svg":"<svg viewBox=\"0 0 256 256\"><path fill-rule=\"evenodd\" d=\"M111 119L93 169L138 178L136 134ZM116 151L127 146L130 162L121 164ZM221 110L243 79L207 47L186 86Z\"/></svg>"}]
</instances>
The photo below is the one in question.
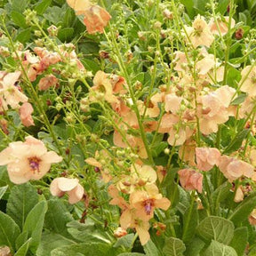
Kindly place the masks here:
<instances>
[{"instance_id":1,"label":"long flat green leaf lying along the bottom edge, left of centre","mask_svg":"<svg viewBox=\"0 0 256 256\"><path fill-rule=\"evenodd\" d=\"M67 256L67 255L79 255L79 256L112 256L108 254L111 249L111 244L103 243L82 243L75 245L63 246L52 250L51 256ZM113 255L114 256L114 255Z\"/></svg>"}]
</instances>

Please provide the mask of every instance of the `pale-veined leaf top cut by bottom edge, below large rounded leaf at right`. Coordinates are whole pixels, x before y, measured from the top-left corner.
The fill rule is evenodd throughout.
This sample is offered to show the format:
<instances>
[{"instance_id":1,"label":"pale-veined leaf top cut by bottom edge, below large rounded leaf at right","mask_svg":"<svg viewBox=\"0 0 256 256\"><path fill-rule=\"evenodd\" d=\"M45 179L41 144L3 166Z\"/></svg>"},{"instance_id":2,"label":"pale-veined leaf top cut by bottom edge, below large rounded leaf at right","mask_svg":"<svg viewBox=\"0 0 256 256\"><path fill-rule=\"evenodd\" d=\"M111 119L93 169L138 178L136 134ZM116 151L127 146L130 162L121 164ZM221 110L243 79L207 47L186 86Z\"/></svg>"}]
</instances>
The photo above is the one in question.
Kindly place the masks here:
<instances>
[{"instance_id":1,"label":"pale-veined leaf top cut by bottom edge, below large rounded leaf at right","mask_svg":"<svg viewBox=\"0 0 256 256\"><path fill-rule=\"evenodd\" d=\"M218 241L212 240L212 243L209 247L200 254L202 256L237 256L235 249L232 247L221 244Z\"/></svg>"}]
</instances>

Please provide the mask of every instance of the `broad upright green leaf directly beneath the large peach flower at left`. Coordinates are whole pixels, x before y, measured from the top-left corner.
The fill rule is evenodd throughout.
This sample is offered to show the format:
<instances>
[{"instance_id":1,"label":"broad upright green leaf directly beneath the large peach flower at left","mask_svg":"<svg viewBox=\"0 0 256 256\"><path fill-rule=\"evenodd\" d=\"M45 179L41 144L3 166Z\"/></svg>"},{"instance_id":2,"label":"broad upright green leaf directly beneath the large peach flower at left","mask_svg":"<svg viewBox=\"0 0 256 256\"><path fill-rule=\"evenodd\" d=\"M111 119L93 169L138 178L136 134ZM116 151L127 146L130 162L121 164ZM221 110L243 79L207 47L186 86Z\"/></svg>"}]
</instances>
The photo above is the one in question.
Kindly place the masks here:
<instances>
[{"instance_id":1,"label":"broad upright green leaf directly beneath the large peach flower at left","mask_svg":"<svg viewBox=\"0 0 256 256\"><path fill-rule=\"evenodd\" d=\"M28 213L38 202L36 188L29 182L12 188L6 212L22 229Z\"/></svg>"}]
</instances>

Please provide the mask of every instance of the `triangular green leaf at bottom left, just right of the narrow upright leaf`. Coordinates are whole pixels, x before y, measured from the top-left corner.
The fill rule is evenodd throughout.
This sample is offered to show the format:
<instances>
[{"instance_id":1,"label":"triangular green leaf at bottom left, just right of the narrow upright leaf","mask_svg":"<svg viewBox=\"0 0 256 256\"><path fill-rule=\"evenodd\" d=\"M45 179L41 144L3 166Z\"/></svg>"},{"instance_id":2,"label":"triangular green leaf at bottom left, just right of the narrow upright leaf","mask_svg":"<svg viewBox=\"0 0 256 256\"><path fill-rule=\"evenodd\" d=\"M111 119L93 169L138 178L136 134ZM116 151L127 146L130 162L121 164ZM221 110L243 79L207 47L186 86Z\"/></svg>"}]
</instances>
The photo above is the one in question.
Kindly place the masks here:
<instances>
[{"instance_id":1,"label":"triangular green leaf at bottom left, just right of the narrow upright leaf","mask_svg":"<svg viewBox=\"0 0 256 256\"><path fill-rule=\"evenodd\" d=\"M68 239L65 236L61 236L52 232L44 232L36 251L36 256L51 256L52 250L74 244L76 244L75 241Z\"/></svg>"}]
</instances>

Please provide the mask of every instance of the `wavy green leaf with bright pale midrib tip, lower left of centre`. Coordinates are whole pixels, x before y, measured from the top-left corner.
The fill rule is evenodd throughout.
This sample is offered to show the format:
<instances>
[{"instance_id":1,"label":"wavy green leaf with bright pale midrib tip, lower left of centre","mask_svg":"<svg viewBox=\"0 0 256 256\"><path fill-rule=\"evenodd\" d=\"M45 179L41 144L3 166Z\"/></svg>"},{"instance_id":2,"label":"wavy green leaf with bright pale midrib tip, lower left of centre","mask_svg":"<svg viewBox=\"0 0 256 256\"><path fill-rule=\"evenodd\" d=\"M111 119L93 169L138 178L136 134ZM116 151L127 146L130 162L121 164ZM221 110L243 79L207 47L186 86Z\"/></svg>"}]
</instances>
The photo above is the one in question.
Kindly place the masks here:
<instances>
[{"instance_id":1,"label":"wavy green leaf with bright pale midrib tip, lower left of centre","mask_svg":"<svg viewBox=\"0 0 256 256\"><path fill-rule=\"evenodd\" d=\"M86 220L86 223L79 223L78 221L72 221L68 223L68 233L76 238L76 240L84 242L104 242L111 243L109 237L104 229L96 226L90 219Z\"/></svg>"}]
</instances>

